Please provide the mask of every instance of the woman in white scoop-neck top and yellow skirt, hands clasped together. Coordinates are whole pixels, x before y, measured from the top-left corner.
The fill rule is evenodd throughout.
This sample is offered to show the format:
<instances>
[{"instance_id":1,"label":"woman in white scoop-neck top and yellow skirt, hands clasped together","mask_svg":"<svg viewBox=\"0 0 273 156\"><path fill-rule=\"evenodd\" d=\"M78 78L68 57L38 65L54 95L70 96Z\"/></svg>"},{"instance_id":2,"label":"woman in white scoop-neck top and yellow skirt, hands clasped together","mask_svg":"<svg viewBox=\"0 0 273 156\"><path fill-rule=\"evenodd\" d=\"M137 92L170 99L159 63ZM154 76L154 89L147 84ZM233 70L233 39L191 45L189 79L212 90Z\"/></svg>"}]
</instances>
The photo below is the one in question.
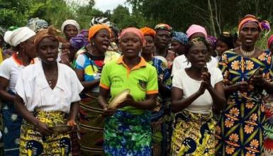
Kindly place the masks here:
<instances>
[{"instance_id":1,"label":"woman in white scoop-neck top and yellow skirt, hands clasped together","mask_svg":"<svg viewBox=\"0 0 273 156\"><path fill-rule=\"evenodd\" d=\"M172 79L172 111L176 113L171 155L215 155L215 120L225 106L221 71L207 69L210 57L205 38L186 45L191 67L180 69Z\"/></svg>"}]
</instances>

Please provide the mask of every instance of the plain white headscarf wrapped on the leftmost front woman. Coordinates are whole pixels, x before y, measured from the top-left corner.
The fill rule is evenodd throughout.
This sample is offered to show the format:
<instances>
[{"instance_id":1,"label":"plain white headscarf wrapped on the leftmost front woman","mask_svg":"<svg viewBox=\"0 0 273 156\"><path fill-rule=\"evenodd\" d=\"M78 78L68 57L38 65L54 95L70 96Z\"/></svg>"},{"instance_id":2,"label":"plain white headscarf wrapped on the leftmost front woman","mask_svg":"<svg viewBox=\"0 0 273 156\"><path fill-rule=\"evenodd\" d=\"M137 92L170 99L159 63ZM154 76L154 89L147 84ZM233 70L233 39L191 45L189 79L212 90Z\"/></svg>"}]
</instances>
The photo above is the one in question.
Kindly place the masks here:
<instances>
[{"instance_id":1,"label":"plain white headscarf wrapped on the leftmost front woman","mask_svg":"<svg viewBox=\"0 0 273 156\"><path fill-rule=\"evenodd\" d=\"M20 43L25 42L29 38L33 37L36 33L30 30L28 27L21 27L15 30L8 30L4 35L4 40L9 45L16 47Z\"/></svg>"}]
</instances>

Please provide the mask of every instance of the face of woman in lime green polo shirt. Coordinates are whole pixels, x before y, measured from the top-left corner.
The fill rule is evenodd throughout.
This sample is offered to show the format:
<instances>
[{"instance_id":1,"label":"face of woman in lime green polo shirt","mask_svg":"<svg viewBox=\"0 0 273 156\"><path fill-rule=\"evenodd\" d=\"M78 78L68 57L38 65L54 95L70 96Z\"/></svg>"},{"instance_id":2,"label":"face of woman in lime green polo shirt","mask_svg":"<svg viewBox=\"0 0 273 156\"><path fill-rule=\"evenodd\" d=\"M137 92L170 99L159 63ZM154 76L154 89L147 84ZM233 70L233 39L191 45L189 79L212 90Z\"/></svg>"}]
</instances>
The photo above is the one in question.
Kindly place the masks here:
<instances>
[{"instance_id":1,"label":"face of woman in lime green polo shirt","mask_svg":"<svg viewBox=\"0 0 273 156\"><path fill-rule=\"evenodd\" d=\"M121 51L124 57L135 58L143 48L140 38L135 33L125 33L121 38Z\"/></svg>"}]
</instances>

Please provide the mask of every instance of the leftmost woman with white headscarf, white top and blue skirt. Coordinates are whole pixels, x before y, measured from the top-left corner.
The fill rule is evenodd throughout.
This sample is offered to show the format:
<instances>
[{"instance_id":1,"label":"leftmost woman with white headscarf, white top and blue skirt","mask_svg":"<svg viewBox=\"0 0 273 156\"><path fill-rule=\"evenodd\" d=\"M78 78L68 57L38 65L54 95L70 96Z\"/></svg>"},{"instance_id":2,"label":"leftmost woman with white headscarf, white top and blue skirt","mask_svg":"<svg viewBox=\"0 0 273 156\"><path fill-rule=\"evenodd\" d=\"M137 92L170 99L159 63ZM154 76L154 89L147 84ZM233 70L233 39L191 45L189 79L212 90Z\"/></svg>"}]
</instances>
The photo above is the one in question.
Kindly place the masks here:
<instances>
[{"instance_id":1,"label":"leftmost woman with white headscarf, white top and blue skirt","mask_svg":"<svg viewBox=\"0 0 273 156\"><path fill-rule=\"evenodd\" d=\"M7 31L6 43L18 52L0 65L0 96L4 124L4 155L19 155L19 137L22 118L16 113L13 101L18 74L26 66L33 64L36 57L33 43L35 32L27 27Z\"/></svg>"}]
</instances>

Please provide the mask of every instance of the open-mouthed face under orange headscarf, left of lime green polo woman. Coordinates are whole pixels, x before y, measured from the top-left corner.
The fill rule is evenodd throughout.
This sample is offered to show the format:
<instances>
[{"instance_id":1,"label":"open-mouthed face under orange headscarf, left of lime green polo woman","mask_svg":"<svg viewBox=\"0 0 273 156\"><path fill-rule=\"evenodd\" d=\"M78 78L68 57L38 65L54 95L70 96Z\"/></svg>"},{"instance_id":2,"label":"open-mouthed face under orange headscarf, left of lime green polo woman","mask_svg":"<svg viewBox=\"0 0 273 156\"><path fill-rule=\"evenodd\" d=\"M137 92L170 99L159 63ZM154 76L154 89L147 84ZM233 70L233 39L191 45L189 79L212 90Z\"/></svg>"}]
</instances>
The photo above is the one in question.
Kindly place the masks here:
<instances>
[{"instance_id":1,"label":"open-mouthed face under orange headscarf, left of lime green polo woman","mask_svg":"<svg viewBox=\"0 0 273 156\"><path fill-rule=\"evenodd\" d=\"M94 39L92 39L92 42L100 52L106 52L110 45L110 39L110 33L108 32L108 30L101 29L98 31L98 33L96 33L96 35L94 35Z\"/></svg>"}]
</instances>

